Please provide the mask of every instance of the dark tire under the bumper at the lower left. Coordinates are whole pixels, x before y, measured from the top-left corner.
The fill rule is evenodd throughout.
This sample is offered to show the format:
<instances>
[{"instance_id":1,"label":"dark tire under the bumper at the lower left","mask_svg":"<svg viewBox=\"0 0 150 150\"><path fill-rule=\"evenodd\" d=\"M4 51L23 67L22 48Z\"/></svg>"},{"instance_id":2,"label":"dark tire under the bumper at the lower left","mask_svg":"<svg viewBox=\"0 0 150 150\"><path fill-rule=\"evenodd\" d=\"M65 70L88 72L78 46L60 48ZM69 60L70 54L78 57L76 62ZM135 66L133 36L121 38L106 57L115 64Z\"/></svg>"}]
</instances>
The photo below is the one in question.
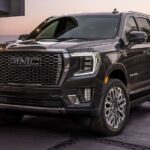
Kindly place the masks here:
<instances>
[{"instance_id":1,"label":"dark tire under the bumper at the lower left","mask_svg":"<svg viewBox=\"0 0 150 150\"><path fill-rule=\"evenodd\" d=\"M3 125L18 125L23 116L23 114L16 112L0 111L0 122Z\"/></svg>"}]
</instances>

